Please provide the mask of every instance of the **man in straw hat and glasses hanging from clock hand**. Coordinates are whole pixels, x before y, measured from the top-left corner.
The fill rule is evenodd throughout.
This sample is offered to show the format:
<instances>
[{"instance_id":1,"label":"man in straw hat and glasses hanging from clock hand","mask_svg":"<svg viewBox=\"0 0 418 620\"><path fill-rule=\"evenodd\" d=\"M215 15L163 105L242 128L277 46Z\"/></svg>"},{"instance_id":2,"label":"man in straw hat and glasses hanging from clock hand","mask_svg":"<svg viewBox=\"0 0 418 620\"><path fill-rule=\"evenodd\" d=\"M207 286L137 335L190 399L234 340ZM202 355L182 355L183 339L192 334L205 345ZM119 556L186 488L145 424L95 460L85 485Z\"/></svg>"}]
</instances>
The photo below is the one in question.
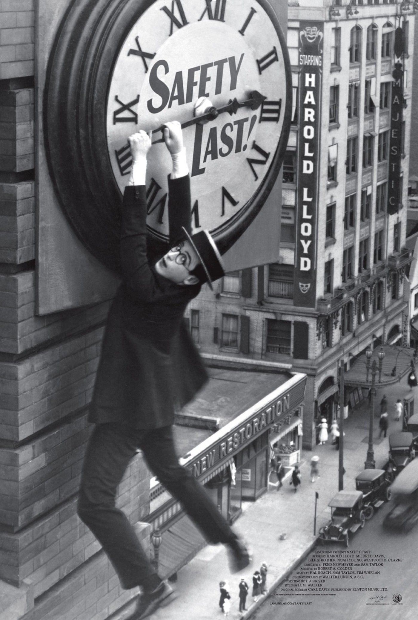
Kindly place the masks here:
<instances>
[{"instance_id":1,"label":"man in straw hat and glasses hanging from clock hand","mask_svg":"<svg viewBox=\"0 0 418 620\"><path fill-rule=\"evenodd\" d=\"M174 412L207 380L183 313L201 285L224 275L222 259L207 231L191 235L188 167L181 126L163 130L172 156L168 181L170 246L156 255L147 246L146 166L150 136L129 138L133 164L124 190L121 221L122 283L113 301L90 406L95 427L87 446L78 514L118 573L123 588L142 588L136 615L145 618L168 604L173 589L150 564L133 527L115 506L118 484L138 449L164 487L178 499L207 540L229 551L230 570L250 555L191 472L178 463Z\"/></svg>"}]
</instances>

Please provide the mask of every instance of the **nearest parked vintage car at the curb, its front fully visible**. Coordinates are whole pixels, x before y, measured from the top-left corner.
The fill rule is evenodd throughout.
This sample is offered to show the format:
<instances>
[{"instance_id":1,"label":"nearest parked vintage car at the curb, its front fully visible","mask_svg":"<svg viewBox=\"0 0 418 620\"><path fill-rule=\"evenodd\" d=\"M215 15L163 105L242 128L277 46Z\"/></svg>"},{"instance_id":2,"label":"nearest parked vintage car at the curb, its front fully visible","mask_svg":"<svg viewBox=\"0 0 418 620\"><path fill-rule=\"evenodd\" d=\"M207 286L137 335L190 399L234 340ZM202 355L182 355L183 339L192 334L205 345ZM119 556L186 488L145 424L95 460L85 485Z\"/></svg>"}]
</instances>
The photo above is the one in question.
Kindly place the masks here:
<instances>
[{"instance_id":1,"label":"nearest parked vintage car at the curb, its front fully visible","mask_svg":"<svg viewBox=\"0 0 418 620\"><path fill-rule=\"evenodd\" d=\"M339 491L328 506L331 507L331 521L320 529L321 542L344 541L348 547L350 533L364 528L363 494L361 491Z\"/></svg>"}]
</instances>

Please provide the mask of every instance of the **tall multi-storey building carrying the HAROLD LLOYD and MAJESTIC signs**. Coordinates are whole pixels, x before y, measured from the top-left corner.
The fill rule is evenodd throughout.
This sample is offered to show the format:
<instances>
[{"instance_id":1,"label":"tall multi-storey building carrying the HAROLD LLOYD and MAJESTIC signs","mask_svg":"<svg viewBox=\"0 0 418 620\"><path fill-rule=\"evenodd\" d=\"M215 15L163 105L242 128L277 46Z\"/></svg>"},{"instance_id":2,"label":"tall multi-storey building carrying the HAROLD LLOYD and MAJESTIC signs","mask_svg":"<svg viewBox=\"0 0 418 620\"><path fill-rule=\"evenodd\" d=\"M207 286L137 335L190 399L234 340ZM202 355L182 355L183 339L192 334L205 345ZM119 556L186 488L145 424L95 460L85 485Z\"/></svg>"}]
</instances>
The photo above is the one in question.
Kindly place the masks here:
<instances>
[{"instance_id":1,"label":"tall multi-storey building carrying the HAROLD LLOYD and MAJESTIC signs","mask_svg":"<svg viewBox=\"0 0 418 620\"><path fill-rule=\"evenodd\" d=\"M414 11L411 3L383 0L289 2L294 110L282 172L280 260L230 273L214 294L206 290L190 306L191 331L202 351L290 362L307 373L305 448L315 445L319 418L331 422L336 415L339 361L348 370L369 344L409 344L404 273L411 252L404 246ZM316 37L317 55L308 53L302 60L307 33ZM400 81L393 76L396 63ZM403 89L399 97L396 88ZM303 143L301 132L308 120L310 137L315 106L318 134ZM393 131L392 117L402 120L401 130ZM394 176L393 136L401 142ZM303 156L314 153L315 141L320 149L305 193L298 182L310 170ZM394 187L399 188L396 204L390 194ZM308 208L314 190L313 214ZM304 198L309 198L306 205ZM312 214L316 225L311 226ZM305 232L312 232L308 241ZM315 247L310 283L298 270L307 265L298 261L308 246ZM256 254L255 248L248 251ZM310 286L316 292L313 303L306 304L303 291Z\"/></svg>"}]
</instances>

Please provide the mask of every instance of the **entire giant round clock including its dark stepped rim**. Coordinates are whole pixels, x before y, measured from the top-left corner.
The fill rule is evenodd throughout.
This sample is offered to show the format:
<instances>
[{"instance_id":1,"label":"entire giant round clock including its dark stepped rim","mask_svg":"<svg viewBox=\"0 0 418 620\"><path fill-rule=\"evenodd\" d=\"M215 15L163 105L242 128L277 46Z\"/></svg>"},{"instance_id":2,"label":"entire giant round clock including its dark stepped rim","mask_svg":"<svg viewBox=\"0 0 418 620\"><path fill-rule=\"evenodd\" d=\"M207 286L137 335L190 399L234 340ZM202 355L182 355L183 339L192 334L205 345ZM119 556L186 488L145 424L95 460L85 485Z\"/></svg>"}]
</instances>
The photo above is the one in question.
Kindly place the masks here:
<instances>
[{"instance_id":1,"label":"entire giant round clock including its dark stepped rim","mask_svg":"<svg viewBox=\"0 0 418 620\"><path fill-rule=\"evenodd\" d=\"M209 229L228 249L276 180L291 91L284 35L266 0L73 0L48 66L44 134L51 178L77 235L118 267L128 136L145 129L155 142L147 224L151 239L167 239L172 164L159 128L178 120L193 228ZM219 112L206 123L193 122L200 97Z\"/></svg>"}]
</instances>

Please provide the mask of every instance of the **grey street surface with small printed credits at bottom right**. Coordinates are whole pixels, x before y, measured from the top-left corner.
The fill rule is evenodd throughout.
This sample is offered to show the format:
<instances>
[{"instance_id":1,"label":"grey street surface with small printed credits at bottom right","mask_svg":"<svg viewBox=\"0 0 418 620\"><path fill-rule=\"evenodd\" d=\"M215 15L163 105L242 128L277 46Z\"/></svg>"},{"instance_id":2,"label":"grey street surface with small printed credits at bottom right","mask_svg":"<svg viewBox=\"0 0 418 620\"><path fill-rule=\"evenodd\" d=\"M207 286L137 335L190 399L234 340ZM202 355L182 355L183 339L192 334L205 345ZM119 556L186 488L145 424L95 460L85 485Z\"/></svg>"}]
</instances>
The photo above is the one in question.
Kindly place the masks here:
<instances>
[{"instance_id":1,"label":"grey street surface with small printed credits at bottom right","mask_svg":"<svg viewBox=\"0 0 418 620\"><path fill-rule=\"evenodd\" d=\"M344 544L323 546L318 542L289 578L266 598L253 618L415 618L418 609L418 528L408 534L384 529L382 521L392 505L392 502L388 502L377 510L373 518L366 522L364 529L353 534L348 549ZM324 556L328 556L325 562ZM335 575L337 571L341 574ZM303 592L300 592L301 588ZM333 588L336 590L333 591ZM292 592L294 590L297 591ZM393 595L401 595L401 601L394 603Z\"/></svg>"}]
</instances>

